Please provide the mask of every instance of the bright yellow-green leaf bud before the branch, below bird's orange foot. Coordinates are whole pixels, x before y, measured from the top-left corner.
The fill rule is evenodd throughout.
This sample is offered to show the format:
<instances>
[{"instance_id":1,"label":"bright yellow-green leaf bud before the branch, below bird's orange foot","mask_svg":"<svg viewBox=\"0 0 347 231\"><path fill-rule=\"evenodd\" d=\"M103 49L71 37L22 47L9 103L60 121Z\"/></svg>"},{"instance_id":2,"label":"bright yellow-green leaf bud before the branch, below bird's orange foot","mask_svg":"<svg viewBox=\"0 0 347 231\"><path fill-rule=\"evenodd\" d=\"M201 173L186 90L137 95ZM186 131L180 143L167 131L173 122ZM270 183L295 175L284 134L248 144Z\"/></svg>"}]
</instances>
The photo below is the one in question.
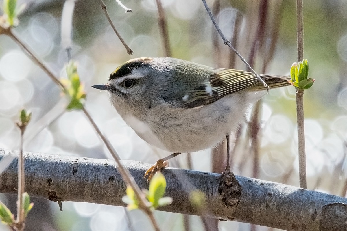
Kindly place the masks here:
<instances>
[{"instance_id":1,"label":"bright yellow-green leaf bud before the branch, below bird's orange foot","mask_svg":"<svg viewBox=\"0 0 347 231\"><path fill-rule=\"evenodd\" d=\"M159 206L159 199L163 197L166 189L166 180L161 172L156 172L149 186L148 200L154 208Z\"/></svg>"}]
</instances>

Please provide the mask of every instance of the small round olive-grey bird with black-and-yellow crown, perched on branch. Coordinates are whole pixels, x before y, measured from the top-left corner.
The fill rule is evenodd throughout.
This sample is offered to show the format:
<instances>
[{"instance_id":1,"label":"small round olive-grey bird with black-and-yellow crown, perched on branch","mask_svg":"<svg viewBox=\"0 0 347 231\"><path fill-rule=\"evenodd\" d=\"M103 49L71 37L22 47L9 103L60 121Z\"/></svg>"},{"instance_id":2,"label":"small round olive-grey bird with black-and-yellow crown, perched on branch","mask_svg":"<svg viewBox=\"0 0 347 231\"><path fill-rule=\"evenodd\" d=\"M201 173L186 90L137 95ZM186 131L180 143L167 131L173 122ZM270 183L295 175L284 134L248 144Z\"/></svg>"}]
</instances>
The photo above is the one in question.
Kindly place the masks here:
<instances>
[{"instance_id":1,"label":"small round olive-grey bird with black-and-yellow crown, perched on branch","mask_svg":"<svg viewBox=\"0 0 347 231\"><path fill-rule=\"evenodd\" d=\"M290 76L260 77L270 88L290 85ZM108 91L117 112L143 140L174 152L158 160L146 172L149 177L165 166L163 161L210 148L225 136L229 147L229 133L249 104L265 95L251 72L174 58L129 60L111 73L105 85L93 88Z\"/></svg>"}]
</instances>

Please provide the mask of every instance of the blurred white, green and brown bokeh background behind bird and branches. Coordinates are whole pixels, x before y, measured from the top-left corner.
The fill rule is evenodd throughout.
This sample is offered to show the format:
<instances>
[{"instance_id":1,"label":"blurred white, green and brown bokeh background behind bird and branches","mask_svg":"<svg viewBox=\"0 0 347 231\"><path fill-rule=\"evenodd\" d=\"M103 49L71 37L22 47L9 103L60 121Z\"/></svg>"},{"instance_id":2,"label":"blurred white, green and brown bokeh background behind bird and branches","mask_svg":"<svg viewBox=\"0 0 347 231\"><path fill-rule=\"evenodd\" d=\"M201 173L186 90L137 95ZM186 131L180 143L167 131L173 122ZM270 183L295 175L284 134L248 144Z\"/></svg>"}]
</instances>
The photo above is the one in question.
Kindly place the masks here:
<instances>
[{"instance_id":1,"label":"blurred white, green and brown bokeh background behind bird and branches","mask_svg":"<svg viewBox=\"0 0 347 231\"><path fill-rule=\"evenodd\" d=\"M26 3L15 28L37 55L60 77L65 76L67 53L61 43L64 1ZM223 33L252 63L254 69L289 74L296 61L296 6L294 0L208 1ZM108 136L122 159L154 163L169 153L142 141L112 108L106 92L90 86L105 83L121 63L134 57L164 56L158 12L154 0L124 0L125 10L105 1L111 19L134 51L128 55L113 32L99 1L76 1L72 19L71 54L87 92L86 108ZM200 0L163 0L172 57L215 67L244 69L215 34ZM307 187L346 195L347 154L347 0L304 2L304 57L310 77L305 91ZM66 99L59 88L7 36L0 36L0 148L18 150L20 132L15 126L22 107L33 113L25 136L25 151L111 158L81 112L65 112ZM258 109L249 109L239 132L232 134L232 170L235 174L298 186L295 89L270 90ZM259 112L259 116L255 115ZM253 126L257 124L259 126ZM254 132L253 127L259 129ZM255 133L255 134L254 134ZM254 138L256 137L256 138ZM218 150L182 154L171 167L203 171L224 168ZM191 165L189 158L191 158ZM217 166L217 167L216 167ZM0 195L11 207L15 196ZM122 207L64 202L58 205L34 199L26 230L152 230L141 211L131 211L130 223ZM14 208L12 209L14 211ZM162 230L207 230L198 216L155 212ZM275 219L275 218L274 218ZM189 229L184 224L189 224ZM213 225L212 225L213 226ZM219 222L220 231L275 230L237 222ZM7 230L0 226L0 230ZM213 229L211 229L213 230ZM214 229L217 230L217 229Z\"/></svg>"}]
</instances>

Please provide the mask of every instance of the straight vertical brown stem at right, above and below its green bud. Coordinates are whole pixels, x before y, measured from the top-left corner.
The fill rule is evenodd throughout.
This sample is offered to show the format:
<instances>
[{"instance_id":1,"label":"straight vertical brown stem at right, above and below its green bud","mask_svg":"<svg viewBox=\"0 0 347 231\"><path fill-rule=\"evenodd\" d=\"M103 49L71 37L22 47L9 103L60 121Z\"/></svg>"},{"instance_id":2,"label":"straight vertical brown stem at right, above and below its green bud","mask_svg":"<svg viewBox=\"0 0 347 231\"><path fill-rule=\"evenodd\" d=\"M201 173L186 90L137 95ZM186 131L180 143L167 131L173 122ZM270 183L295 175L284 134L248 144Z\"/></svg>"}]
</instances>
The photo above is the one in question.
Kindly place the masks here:
<instances>
[{"instance_id":1,"label":"straight vertical brown stem at right, above and below its green bud","mask_svg":"<svg viewBox=\"0 0 347 231\"><path fill-rule=\"evenodd\" d=\"M297 17L297 61L304 59L304 25L303 1L296 0ZM306 153L305 153L305 125L304 125L304 91L296 89L296 117L298 123L298 152L299 152L299 185L306 188Z\"/></svg>"}]
</instances>

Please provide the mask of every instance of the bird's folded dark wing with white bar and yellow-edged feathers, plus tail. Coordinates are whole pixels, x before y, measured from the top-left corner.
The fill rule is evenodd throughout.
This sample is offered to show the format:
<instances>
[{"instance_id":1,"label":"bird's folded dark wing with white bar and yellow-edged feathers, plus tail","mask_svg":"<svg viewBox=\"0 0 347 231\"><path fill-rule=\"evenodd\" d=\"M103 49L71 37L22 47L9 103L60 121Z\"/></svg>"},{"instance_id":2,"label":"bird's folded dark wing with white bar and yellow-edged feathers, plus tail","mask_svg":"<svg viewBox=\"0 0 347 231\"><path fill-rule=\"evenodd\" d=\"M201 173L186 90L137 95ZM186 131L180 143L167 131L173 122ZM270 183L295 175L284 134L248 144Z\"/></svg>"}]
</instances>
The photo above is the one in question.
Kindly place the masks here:
<instances>
[{"instance_id":1,"label":"bird's folded dark wing with white bar and yellow-edged feathers, plus tail","mask_svg":"<svg viewBox=\"0 0 347 231\"><path fill-rule=\"evenodd\" d=\"M259 76L270 88L290 85L287 82L287 80L290 80L289 76L266 74L260 74ZM222 69L210 75L208 81L202 86L190 90L180 101L183 107L199 108L242 90L258 91L265 90L265 88L251 72Z\"/></svg>"}]
</instances>

